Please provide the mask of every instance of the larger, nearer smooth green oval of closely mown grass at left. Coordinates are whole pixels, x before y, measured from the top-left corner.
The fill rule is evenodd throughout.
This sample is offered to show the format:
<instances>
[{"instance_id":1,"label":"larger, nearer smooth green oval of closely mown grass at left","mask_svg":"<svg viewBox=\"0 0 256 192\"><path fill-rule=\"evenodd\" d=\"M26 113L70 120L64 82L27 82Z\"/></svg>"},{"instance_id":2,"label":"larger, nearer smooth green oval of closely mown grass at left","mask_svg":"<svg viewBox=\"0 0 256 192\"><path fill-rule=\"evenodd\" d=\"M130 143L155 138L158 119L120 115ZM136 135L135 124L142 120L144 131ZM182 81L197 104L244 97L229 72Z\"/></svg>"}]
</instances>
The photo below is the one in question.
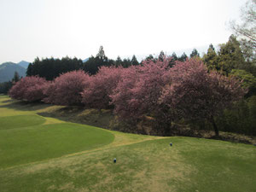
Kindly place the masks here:
<instances>
[{"instance_id":1,"label":"larger, nearer smooth green oval of closely mown grass at left","mask_svg":"<svg viewBox=\"0 0 256 192\"><path fill-rule=\"evenodd\" d=\"M70 123L0 131L0 168L99 148L113 138L108 131Z\"/></svg>"}]
</instances>

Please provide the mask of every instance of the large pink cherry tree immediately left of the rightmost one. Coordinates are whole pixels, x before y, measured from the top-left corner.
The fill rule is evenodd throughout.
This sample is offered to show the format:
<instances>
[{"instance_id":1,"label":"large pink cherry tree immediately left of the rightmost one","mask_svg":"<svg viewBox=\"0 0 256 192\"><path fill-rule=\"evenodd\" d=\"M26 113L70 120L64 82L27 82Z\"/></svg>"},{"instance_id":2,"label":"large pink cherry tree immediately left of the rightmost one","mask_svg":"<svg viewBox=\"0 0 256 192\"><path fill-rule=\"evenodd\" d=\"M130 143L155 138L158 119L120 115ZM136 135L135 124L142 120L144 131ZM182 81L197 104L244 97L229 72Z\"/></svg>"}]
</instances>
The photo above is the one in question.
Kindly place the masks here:
<instances>
[{"instance_id":1,"label":"large pink cherry tree immediately left of the rightmost one","mask_svg":"<svg viewBox=\"0 0 256 192\"><path fill-rule=\"evenodd\" d=\"M122 73L117 88L110 96L114 112L121 119L137 120L143 115L157 117L159 97L168 80L170 58L163 61L143 61L139 67L129 67Z\"/></svg>"}]
</instances>

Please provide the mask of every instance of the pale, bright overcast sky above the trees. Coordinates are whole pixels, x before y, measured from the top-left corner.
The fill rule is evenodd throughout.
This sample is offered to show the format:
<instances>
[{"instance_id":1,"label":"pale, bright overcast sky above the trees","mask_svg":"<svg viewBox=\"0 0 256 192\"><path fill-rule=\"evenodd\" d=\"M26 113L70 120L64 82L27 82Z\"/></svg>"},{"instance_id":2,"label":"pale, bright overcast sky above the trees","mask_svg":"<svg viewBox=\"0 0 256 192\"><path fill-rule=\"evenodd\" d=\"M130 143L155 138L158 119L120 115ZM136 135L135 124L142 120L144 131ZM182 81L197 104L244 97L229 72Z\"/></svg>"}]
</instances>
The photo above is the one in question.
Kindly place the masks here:
<instances>
[{"instance_id":1,"label":"pale, bright overcast sky above the trees","mask_svg":"<svg viewBox=\"0 0 256 192\"><path fill-rule=\"evenodd\" d=\"M247 0L0 0L0 63L223 44Z\"/></svg>"}]
</instances>

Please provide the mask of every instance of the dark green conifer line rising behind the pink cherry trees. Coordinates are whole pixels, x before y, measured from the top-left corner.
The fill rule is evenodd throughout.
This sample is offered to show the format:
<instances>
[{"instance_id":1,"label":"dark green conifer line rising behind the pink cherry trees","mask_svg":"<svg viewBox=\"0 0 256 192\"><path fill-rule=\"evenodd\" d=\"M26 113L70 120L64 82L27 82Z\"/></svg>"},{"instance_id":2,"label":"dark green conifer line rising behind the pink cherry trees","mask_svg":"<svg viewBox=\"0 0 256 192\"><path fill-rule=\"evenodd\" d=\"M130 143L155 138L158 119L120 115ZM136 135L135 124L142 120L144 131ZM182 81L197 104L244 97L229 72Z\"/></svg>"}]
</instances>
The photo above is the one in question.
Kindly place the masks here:
<instances>
[{"instance_id":1,"label":"dark green conifer line rising behind the pink cherry trees","mask_svg":"<svg viewBox=\"0 0 256 192\"><path fill-rule=\"evenodd\" d=\"M154 57L153 55L148 55L145 60L156 61L161 59L161 57L165 55L163 51L160 52L158 57ZM194 49L190 55L199 56L199 53L196 49ZM187 59L187 55L183 53L181 56L177 56L176 53L172 54L172 61L170 61L170 65L174 64L175 61L185 61ZM131 67L141 65L142 61L137 61L136 55L133 55L130 58L121 59L119 56L116 60L109 59L108 56L105 55L104 49L101 46L96 56L91 55L87 61L83 62L77 58L69 58L63 57L62 59L55 58L45 58L39 59L38 57L29 64L27 67L26 75L27 76L35 76L45 78L47 80L52 80L58 77L61 73L67 73L73 70L84 70L85 73L89 73L90 75L94 75L98 72L100 67Z\"/></svg>"}]
</instances>

